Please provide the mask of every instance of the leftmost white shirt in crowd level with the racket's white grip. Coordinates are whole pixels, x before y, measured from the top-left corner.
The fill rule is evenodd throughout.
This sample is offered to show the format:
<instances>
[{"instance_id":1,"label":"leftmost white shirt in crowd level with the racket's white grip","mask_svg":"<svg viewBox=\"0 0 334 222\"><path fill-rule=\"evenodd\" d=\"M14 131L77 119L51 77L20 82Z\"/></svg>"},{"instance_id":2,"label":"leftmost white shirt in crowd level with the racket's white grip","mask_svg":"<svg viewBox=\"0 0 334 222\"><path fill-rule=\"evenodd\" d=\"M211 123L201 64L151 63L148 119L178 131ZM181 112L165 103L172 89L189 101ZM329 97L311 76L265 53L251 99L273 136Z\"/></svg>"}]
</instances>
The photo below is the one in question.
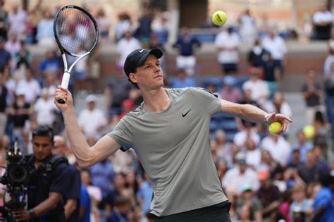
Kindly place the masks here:
<instances>
[{"instance_id":1,"label":"leftmost white shirt in crowd level with the racket's white grip","mask_svg":"<svg viewBox=\"0 0 334 222\"><path fill-rule=\"evenodd\" d=\"M23 92L23 94L25 95L25 101L27 101L27 103L29 104L32 104L39 96L41 92L41 87L39 86L37 80L31 79L28 82L24 78L18 81L16 92Z\"/></svg>"}]
</instances>

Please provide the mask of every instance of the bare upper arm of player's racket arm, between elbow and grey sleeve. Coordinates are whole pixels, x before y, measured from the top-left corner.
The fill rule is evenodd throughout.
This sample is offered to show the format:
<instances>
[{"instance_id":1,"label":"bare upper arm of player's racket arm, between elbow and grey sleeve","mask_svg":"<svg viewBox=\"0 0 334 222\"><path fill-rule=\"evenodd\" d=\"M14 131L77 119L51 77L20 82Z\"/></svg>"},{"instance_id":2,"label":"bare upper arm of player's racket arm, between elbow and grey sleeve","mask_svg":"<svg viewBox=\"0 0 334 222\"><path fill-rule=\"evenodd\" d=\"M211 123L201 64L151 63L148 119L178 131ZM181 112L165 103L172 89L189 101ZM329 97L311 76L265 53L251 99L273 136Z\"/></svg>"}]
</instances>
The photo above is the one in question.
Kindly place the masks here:
<instances>
[{"instance_id":1,"label":"bare upper arm of player's racket arm, between elbow and grey sleeve","mask_svg":"<svg viewBox=\"0 0 334 222\"><path fill-rule=\"evenodd\" d=\"M120 149L120 144L109 135L104 135L104 137L101 137L91 149L94 152L95 161L97 162L104 160L115 153Z\"/></svg>"}]
</instances>

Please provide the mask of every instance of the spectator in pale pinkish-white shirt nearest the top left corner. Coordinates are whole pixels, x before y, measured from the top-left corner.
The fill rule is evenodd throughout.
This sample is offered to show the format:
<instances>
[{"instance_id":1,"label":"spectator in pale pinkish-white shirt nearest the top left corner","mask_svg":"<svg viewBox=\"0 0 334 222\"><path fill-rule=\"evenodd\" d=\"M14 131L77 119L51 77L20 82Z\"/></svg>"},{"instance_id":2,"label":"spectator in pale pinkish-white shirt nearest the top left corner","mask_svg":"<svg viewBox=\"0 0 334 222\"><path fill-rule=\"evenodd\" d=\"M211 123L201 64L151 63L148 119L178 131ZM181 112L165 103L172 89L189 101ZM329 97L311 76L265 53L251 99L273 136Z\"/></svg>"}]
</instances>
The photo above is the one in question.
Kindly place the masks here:
<instances>
[{"instance_id":1,"label":"spectator in pale pinkish-white shirt nearest the top left corner","mask_svg":"<svg viewBox=\"0 0 334 222\"><path fill-rule=\"evenodd\" d=\"M24 37L27 25L27 12L20 9L17 4L12 6L12 11L8 15L8 33L16 33L18 38Z\"/></svg>"}]
</instances>

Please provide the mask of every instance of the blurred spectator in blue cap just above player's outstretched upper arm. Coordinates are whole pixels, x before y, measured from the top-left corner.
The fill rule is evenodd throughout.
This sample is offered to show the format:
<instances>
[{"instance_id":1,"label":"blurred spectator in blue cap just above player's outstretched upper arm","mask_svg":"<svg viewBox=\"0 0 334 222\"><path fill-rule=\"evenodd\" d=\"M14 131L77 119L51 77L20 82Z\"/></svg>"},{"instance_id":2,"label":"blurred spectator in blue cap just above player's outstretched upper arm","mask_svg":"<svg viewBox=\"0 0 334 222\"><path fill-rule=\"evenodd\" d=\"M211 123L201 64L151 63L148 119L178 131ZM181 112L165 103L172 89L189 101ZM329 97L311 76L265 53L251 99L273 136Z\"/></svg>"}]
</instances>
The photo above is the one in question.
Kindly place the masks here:
<instances>
[{"instance_id":1,"label":"blurred spectator in blue cap just above player's outstretched upper arm","mask_svg":"<svg viewBox=\"0 0 334 222\"><path fill-rule=\"evenodd\" d=\"M224 78L224 87L221 90L221 99L228 101L233 101L235 103L240 103L242 101L242 93L237 87L235 87L236 80L233 76L225 76Z\"/></svg>"}]
</instances>

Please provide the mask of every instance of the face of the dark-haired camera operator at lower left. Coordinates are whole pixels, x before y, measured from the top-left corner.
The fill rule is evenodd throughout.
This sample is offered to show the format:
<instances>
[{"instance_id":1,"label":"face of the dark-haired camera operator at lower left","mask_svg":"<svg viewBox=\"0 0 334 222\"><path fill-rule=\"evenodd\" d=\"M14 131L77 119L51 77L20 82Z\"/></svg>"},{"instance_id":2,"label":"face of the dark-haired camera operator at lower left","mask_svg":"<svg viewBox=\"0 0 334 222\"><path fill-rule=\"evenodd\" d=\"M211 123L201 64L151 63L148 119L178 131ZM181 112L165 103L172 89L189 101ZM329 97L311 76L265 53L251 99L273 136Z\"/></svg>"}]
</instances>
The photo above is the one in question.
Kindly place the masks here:
<instances>
[{"instance_id":1,"label":"face of the dark-haired camera operator at lower left","mask_svg":"<svg viewBox=\"0 0 334 222\"><path fill-rule=\"evenodd\" d=\"M31 142L32 148L34 149L34 156L37 161L43 161L51 156L52 143L50 137L34 136Z\"/></svg>"}]
</instances>

